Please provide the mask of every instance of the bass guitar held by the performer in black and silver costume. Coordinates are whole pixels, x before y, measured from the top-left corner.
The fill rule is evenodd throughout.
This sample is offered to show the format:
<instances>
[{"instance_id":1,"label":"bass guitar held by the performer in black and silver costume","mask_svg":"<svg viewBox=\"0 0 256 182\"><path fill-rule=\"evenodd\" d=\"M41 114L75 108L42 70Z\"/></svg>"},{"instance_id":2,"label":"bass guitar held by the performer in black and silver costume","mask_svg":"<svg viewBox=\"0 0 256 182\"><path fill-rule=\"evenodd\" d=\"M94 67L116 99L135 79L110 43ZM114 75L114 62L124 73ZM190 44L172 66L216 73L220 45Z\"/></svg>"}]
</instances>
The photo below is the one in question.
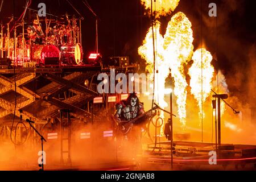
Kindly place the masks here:
<instances>
[{"instance_id":1,"label":"bass guitar held by the performer in black and silver costume","mask_svg":"<svg viewBox=\"0 0 256 182\"><path fill-rule=\"evenodd\" d=\"M117 122L116 118L114 118L114 116L112 115L112 118L114 119L115 122L118 123L118 130L121 131L122 134L127 134L129 133L129 131L131 130L131 127L133 127L133 123L135 123L136 121L138 121L139 119L143 118L145 115L148 115L151 113L152 110L156 110L159 109L159 106L156 105L155 107L153 107L152 109L146 111L146 113L139 115L138 117L131 119L130 121L121 121L121 122Z\"/></svg>"}]
</instances>

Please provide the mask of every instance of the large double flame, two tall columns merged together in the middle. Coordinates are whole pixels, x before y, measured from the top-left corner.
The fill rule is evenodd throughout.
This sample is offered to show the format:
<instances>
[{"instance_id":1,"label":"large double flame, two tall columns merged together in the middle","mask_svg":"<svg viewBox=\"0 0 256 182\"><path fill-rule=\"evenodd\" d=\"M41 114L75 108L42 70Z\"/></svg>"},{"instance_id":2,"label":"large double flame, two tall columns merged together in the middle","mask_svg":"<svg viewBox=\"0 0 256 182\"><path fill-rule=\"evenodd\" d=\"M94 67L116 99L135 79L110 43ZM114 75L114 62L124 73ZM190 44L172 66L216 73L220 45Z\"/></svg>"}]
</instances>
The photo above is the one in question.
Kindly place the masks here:
<instances>
[{"instance_id":1,"label":"large double flame, two tall columns merged together in the middle","mask_svg":"<svg viewBox=\"0 0 256 182\"><path fill-rule=\"evenodd\" d=\"M159 105L162 107L167 106L166 102L164 102L164 84L171 68L171 75L175 82L174 94L177 97L178 114L183 126L186 123L185 106L187 100L187 81L185 80L183 64L187 64L193 53L193 31L191 26L189 19L181 12L171 18L164 37L160 35L160 27L156 25L156 48L158 52L157 57L159 57L156 68L159 70L159 73L156 74L155 83L156 88L158 88ZM138 53L143 59L146 59L149 64L147 68L151 69L151 72L153 72L152 63L154 60L152 59L152 50L152 31L149 29L143 46L138 49Z\"/></svg>"}]
</instances>

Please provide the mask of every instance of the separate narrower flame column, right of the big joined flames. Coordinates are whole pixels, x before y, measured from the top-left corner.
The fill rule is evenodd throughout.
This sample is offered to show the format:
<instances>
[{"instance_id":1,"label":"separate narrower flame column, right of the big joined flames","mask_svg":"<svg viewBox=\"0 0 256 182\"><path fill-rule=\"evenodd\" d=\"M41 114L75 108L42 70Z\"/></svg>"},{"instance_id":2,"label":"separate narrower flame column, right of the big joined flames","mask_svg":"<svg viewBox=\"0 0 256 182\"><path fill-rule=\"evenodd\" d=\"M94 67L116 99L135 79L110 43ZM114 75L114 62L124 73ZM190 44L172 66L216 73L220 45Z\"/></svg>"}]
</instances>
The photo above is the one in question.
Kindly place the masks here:
<instances>
[{"instance_id":1,"label":"separate narrower flame column, right of the big joined flames","mask_svg":"<svg viewBox=\"0 0 256 182\"><path fill-rule=\"evenodd\" d=\"M210 52L205 48L197 49L193 54L192 60L194 62L188 72L191 77L191 93L195 97L199 106L199 117L204 118L205 115L202 104L210 94L210 89L212 88L211 82L214 73L214 68L210 64L212 61L212 55L210 55Z\"/></svg>"}]
</instances>

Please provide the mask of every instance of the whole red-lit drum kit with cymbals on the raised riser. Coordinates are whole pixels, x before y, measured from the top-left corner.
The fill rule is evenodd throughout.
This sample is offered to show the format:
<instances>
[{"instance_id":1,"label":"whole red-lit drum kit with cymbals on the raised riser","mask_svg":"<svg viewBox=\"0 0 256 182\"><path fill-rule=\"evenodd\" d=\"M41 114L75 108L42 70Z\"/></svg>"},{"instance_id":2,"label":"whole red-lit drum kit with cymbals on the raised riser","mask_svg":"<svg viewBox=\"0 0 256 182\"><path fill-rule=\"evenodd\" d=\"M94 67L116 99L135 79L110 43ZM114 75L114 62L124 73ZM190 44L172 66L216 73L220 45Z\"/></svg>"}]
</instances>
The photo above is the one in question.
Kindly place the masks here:
<instances>
[{"instance_id":1,"label":"whole red-lit drum kit with cymbals on the raised riser","mask_svg":"<svg viewBox=\"0 0 256 182\"><path fill-rule=\"evenodd\" d=\"M1 25L0 55L1 58L9 58L15 67L43 67L46 59L57 59L59 65L82 64L83 51L81 46L81 19L74 15L64 15L61 20L45 18L46 34L40 39L42 43L35 43L24 31L24 24L14 26L14 38L10 36L9 24L7 23L7 35L3 34ZM80 23L77 23L79 21ZM42 22L40 20L39 22ZM77 26L77 24L80 24ZM22 26L23 32L17 35L16 29ZM40 26L40 24L39 24Z\"/></svg>"}]
</instances>

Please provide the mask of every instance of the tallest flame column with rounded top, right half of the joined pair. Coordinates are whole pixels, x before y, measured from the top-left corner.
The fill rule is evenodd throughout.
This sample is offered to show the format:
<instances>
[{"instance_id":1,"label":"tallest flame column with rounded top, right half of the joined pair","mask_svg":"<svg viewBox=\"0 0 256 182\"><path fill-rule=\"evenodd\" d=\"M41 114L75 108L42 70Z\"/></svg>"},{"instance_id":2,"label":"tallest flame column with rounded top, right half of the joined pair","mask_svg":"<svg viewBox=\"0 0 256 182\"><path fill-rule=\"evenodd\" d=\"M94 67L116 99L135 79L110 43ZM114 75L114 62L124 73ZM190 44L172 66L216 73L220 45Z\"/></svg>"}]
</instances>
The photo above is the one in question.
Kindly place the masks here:
<instances>
[{"instance_id":1,"label":"tallest flame column with rounded top, right half of the joined pair","mask_svg":"<svg viewBox=\"0 0 256 182\"><path fill-rule=\"evenodd\" d=\"M168 23L164 36L164 61L170 64L171 75L174 77L174 94L177 97L177 107L180 122L185 126L187 81L185 79L183 64L191 60L193 53L192 24L185 14L175 14Z\"/></svg>"}]
</instances>

